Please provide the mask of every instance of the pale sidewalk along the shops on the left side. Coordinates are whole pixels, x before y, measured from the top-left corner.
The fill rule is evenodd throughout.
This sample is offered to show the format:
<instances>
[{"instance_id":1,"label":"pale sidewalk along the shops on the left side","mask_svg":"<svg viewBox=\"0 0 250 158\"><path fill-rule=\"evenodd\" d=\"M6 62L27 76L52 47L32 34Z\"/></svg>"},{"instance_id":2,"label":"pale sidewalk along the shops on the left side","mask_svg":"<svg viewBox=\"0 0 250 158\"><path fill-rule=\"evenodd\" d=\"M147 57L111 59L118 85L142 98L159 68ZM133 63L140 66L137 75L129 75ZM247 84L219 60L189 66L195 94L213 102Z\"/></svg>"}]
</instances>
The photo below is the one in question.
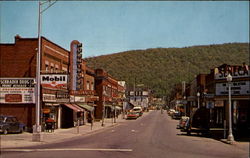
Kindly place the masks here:
<instances>
[{"instance_id":1,"label":"pale sidewalk along the shops on the left side","mask_svg":"<svg viewBox=\"0 0 250 158\"><path fill-rule=\"evenodd\" d=\"M22 134L0 135L0 148L6 149L6 148L29 147L41 144L62 142L65 140L70 140L73 137L88 135L104 129L108 129L108 127L119 125L120 123L125 121L127 120L123 119L122 115L119 115L119 117L116 118L116 123L112 123L111 118L109 119L105 118L104 126L101 125L101 121L94 122L92 129L91 129L91 124L87 123L86 125L79 126L79 130L77 127L73 127L68 129L56 129L54 132L51 133L42 132L41 142L33 142L32 133L28 132L24 132Z\"/></svg>"}]
</instances>

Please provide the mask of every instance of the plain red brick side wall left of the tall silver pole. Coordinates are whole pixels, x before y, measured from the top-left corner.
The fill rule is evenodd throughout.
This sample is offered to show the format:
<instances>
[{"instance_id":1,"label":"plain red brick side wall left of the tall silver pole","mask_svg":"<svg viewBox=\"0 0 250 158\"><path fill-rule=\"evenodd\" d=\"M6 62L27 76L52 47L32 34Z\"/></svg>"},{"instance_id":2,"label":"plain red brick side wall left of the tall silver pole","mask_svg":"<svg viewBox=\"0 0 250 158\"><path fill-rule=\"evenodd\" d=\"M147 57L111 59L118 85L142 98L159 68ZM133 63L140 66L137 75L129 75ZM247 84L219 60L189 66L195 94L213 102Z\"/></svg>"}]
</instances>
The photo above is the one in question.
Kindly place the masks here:
<instances>
[{"instance_id":1,"label":"plain red brick side wall left of the tall silver pole","mask_svg":"<svg viewBox=\"0 0 250 158\"><path fill-rule=\"evenodd\" d=\"M0 44L1 81L3 78L13 80L21 78L35 79L37 47L37 40L32 38L22 40L18 35L15 36L15 43ZM3 90L1 89L1 91ZM12 93L12 91L9 92ZM1 98L4 97L1 96ZM7 101L4 98L0 102L0 113L16 116L19 121L27 124L28 127L32 127L35 123L35 102Z\"/></svg>"}]
</instances>

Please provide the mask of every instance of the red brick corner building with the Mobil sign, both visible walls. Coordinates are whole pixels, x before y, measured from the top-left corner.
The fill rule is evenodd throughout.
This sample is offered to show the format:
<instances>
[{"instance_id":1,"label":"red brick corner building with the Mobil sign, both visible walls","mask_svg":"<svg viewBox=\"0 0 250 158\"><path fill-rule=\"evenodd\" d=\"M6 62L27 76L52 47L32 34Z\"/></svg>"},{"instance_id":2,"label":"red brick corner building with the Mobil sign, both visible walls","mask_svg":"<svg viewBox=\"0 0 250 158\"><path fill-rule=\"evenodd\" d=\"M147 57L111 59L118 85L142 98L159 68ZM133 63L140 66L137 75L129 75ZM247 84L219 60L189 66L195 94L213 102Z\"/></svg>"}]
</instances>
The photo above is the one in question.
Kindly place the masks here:
<instances>
[{"instance_id":1,"label":"red brick corner building with the Mobil sign, both visible walls","mask_svg":"<svg viewBox=\"0 0 250 158\"><path fill-rule=\"evenodd\" d=\"M34 79L36 77L38 38L22 38L17 35L13 44L0 44L0 52L1 78L25 79L28 77ZM63 122L62 118L68 117L64 113L64 111L68 111L67 108L82 110L80 107L67 106L69 103L67 86L69 54L70 52L66 49L45 37L41 38L42 127L44 127L47 118L52 118L56 122L56 128L60 128ZM56 78L63 81L58 81ZM14 92L9 91L9 93ZM5 94L5 96L8 95ZM11 95L12 97L17 96L17 94ZM29 130L32 129L32 125L35 124L35 101L31 103L17 100L6 102L5 98L5 100L1 100L0 104L1 114L17 116L21 122L27 125Z\"/></svg>"}]
</instances>

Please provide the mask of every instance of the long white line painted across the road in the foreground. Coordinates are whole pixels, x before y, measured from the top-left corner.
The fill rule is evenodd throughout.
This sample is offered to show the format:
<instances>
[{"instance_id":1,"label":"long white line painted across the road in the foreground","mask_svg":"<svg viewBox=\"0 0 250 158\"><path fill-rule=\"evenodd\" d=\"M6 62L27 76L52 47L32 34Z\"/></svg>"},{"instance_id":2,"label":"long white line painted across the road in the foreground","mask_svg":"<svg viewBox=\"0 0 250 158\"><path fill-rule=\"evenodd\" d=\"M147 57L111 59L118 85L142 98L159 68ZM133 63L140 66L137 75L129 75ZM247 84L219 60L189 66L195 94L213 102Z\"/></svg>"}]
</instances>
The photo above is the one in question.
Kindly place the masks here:
<instances>
[{"instance_id":1,"label":"long white line painted across the road in the foreground","mask_svg":"<svg viewBox=\"0 0 250 158\"><path fill-rule=\"evenodd\" d=\"M114 152L132 152L133 149L94 149L94 148L60 148L60 149L1 149L8 152L43 152L43 151L114 151Z\"/></svg>"}]
</instances>

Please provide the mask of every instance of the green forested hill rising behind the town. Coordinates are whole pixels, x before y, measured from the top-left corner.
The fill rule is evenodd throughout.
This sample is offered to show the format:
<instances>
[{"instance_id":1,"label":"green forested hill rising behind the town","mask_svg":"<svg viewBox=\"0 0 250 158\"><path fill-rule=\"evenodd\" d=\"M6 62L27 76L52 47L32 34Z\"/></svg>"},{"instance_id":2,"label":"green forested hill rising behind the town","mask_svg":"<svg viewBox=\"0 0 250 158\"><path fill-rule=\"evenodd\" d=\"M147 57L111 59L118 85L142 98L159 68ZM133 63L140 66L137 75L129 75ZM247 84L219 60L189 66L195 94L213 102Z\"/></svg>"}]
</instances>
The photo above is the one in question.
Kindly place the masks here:
<instances>
[{"instance_id":1,"label":"green forested hill rising behind the town","mask_svg":"<svg viewBox=\"0 0 250 158\"><path fill-rule=\"evenodd\" d=\"M128 85L143 83L157 96L169 93L174 84L191 81L199 73L224 63L249 64L249 43L152 48L87 58L91 68L103 68Z\"/></svg>"}]
</instances>

